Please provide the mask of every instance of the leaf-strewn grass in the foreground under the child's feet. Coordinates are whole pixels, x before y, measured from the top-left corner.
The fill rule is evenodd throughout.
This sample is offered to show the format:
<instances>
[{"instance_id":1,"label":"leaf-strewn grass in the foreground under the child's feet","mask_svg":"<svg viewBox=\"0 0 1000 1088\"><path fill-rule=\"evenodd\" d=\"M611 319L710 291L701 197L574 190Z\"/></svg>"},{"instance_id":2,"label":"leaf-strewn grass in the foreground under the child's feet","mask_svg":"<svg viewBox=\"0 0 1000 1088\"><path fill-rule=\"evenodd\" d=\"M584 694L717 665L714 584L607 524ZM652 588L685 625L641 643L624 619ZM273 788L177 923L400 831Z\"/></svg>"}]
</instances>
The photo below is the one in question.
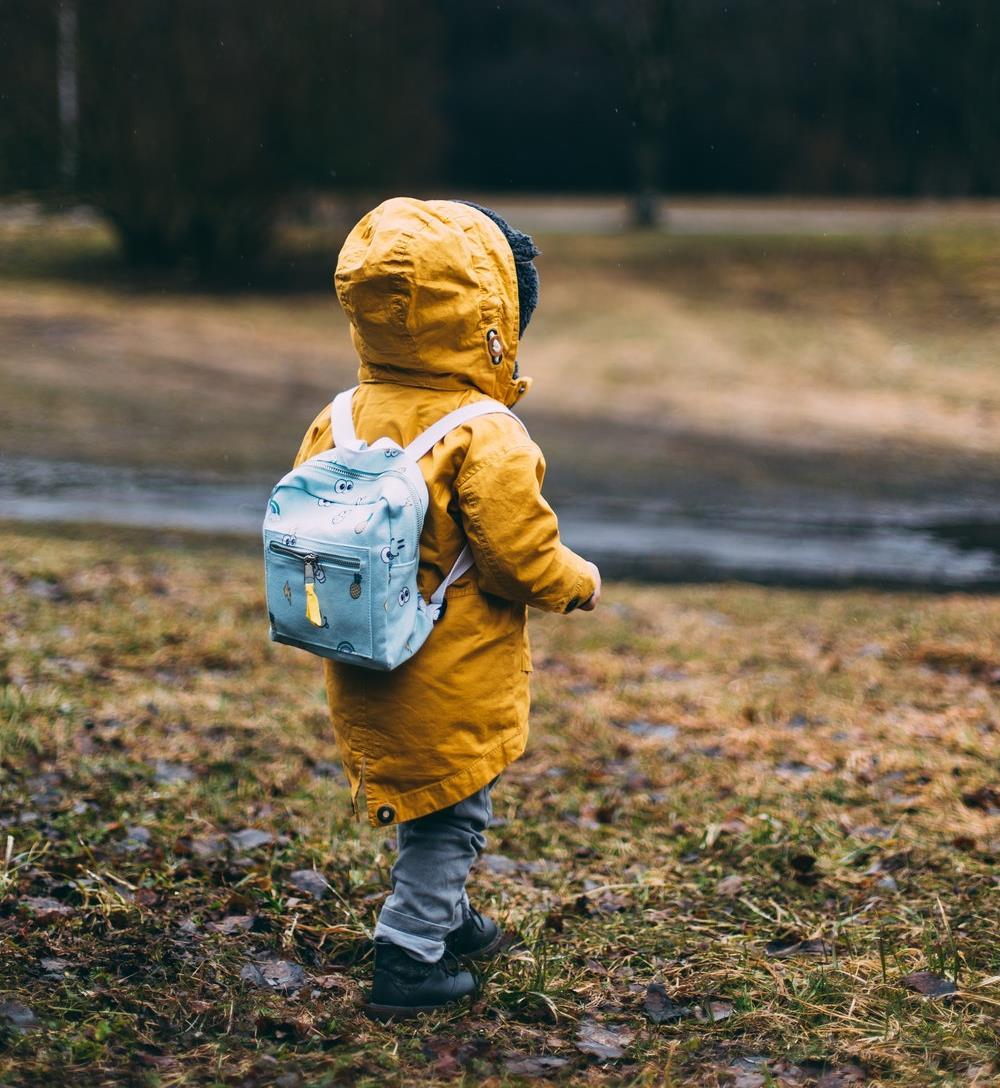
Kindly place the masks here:
<instances>
[{"instance_id":1,"label":"leaf-strewn grass in the foreground under the child's feet","mask_svg":"<svg viewBox=\"0 0 1000 1088\"><path fill-rule=\"evenodd\" d=\"M358 1009L391 837L349 816L252 546L7 527L0 556L0 1081L1000 1075L997 598L620 584L533 616L471 886L517 943L471 1010L393 1028ZM295 982L275 960L301 985L240 977Z\"/></svg>"}]
</instances>

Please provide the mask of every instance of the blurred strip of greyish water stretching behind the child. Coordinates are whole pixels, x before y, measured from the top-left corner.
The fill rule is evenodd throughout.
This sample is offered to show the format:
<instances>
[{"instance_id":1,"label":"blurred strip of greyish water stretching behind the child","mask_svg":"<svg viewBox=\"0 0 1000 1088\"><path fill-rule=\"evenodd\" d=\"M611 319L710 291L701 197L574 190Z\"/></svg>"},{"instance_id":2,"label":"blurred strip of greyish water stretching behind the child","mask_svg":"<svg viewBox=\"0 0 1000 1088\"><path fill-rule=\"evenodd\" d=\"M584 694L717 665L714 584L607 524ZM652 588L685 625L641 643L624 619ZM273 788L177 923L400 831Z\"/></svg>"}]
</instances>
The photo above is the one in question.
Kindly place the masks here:
<instances>
[{"instance_id":1,"label":"blurred strip of greyish water stretching behind the child","mask_svg":"<svg viewBox=\"0 0 1000 1088\"><path fill-rule=\"evenodd\" d=\"M258 533L270 481L0 459L0 518ZM797 500L693 508L557 504L566 542L609 578L1000 590L1000 520L973 504ZM990 517L991 515L992 517Z\"/></svg>"}]
</instances>

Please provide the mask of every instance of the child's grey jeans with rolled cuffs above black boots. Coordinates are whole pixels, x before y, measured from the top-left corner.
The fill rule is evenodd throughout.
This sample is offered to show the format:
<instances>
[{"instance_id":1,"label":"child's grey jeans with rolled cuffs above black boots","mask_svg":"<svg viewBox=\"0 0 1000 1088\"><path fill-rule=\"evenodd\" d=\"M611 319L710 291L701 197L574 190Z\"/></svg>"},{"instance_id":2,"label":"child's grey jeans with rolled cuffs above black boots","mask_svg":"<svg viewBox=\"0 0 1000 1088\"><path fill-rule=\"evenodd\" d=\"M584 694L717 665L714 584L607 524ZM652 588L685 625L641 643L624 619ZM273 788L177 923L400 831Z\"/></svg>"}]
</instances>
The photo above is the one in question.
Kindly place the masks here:
<instances>
[{"instance_id":1,"label":"child's grey jeans with rolled cuffs above black boots","mask_svg":"<svg viewBox=\"0 0 1000 1088\"><path fill-rule=\"evenodd\" d=\"M486 845L495 783L494 778L465 801L396 826L393 890L379 914L375 940L392 941L428 963L442 957L445 937L468 910L466 880Z\"/></svg>"}]
</instances>

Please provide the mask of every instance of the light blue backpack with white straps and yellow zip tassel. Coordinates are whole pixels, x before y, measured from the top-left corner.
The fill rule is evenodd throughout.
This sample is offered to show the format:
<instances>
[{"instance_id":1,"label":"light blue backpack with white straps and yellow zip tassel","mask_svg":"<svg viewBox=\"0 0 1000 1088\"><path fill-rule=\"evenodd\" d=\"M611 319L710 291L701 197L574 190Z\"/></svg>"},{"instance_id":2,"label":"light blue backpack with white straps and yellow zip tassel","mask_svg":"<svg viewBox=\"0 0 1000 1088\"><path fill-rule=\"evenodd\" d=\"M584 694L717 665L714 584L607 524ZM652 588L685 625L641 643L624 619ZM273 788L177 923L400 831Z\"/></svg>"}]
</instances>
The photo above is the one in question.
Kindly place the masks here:
<instances>
[{"instance_id":1,"label":"light blue backpack with white straps and yellow zip tassel","mask_svg":"<svg viewBox=\"0 0 1000 1088\"><path fill-rule=\"evenodd\" d=\"M418 461L470 419L514 412L476 400L408 446L392 438L368 445L355 434L355 388L331 406L336 447L304 461L271 492L263 526L268 615L275 642L388 670L423 645L444 611L445 590L473 561L467 544L430 601L420 596L428 489Z\"/></svg>"}]
</instances>

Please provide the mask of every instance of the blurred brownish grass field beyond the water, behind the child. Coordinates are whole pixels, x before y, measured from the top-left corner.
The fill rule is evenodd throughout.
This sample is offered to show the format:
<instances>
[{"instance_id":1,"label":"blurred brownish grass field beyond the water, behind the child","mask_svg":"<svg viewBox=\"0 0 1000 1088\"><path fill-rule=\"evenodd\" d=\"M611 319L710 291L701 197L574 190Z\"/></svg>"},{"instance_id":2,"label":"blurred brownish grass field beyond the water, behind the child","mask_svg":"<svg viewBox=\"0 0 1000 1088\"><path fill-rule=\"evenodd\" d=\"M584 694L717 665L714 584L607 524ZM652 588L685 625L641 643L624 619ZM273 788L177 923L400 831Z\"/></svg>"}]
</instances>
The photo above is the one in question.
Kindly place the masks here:
<instances>
[{"instance_id":1,"label":"blurred brownish grass field beyond the water, behind the child","mask_svg":"<svg viewBox=\"0 0 1000 1088\"><path fill-rule=\"evenodd\" d=\"M129 275L100 225L0 223L5 448L280 471L356 371L331 287L339 242L291 231L271 287L206 295ZM677 445L690 434L824 463L888 449L917 474L951 459L958 479L975 466L996 475L995 215L910 232L540 243L529 420L593 431L600 416ZM273 289L289 279L298 290ZM579 429L567 444L580 448ZM711 472L701 446L693 460Z\"/></svg>"}]
</instances>

